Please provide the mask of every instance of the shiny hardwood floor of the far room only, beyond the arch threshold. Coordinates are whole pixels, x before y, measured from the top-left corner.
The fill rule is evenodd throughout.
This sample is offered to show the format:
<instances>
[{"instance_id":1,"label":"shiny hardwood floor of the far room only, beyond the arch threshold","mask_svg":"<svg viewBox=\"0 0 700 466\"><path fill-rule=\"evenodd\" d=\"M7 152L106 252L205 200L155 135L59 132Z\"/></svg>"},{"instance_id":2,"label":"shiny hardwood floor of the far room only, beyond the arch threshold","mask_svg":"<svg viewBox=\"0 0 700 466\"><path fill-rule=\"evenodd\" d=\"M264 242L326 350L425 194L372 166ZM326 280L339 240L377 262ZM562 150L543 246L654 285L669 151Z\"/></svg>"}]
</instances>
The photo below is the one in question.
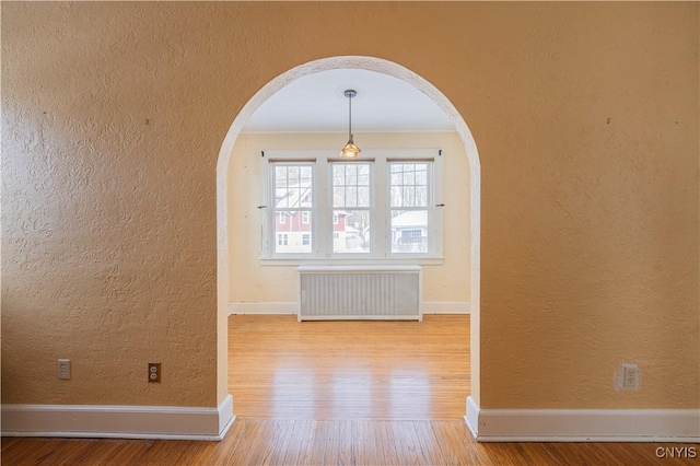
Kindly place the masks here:
<instances>
[{"instance_id":1,"label":"shiny hardwood floor of the far room only, beyond the arch threshold","mask_svg":"<svg viewBox=\"0 0 700 466\"><path fill-rule=\"evenodd\" d=\"M459 420L469 317L304 322L231 316L229 386L244 419Z\"/></svg>"}]
</instances>

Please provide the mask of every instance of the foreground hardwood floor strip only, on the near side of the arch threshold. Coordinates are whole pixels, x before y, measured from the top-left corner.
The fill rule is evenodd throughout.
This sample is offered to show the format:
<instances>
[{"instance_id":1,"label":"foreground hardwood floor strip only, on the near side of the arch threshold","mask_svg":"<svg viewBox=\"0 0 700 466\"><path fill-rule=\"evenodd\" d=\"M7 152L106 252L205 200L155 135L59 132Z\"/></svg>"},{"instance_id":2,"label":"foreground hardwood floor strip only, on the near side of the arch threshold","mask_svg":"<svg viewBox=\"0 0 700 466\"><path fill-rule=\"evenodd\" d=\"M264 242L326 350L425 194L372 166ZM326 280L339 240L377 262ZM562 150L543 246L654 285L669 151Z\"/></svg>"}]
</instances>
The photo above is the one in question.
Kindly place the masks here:
<instances>
[{"instance_id":1,"label":"foreground hardwood floor strip only, on the near side of the arch threshold","mask_svg":"<svg viewBox=\"0 0 700 466\"><path fill-rule=\"evenodd\" d=\"M457 421L236 420L222 442L2 439L3 465L680 465L651 443L476 443ZM678 445L676 445L678 446Z\"/></svg>"}]
</instances>

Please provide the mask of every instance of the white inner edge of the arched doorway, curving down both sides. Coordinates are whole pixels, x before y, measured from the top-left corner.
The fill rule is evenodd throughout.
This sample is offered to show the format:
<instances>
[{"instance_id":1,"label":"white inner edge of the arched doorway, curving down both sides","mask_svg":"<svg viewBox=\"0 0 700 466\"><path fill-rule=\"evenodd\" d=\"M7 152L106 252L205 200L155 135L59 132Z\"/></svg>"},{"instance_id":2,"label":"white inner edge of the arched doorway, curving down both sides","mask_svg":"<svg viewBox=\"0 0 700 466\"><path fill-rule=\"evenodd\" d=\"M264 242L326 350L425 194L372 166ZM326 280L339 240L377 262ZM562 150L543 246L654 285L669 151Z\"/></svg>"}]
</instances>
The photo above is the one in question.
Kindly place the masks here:
<instances>
[{"instance_id":1,"label":"white inner edge of the arched doorway, curving down both sides","mask_svg":"<svg viewBox=\"0 0 700 466\"><path fill-rule=\"evenodd\" d=\"M471 132L457 109L434 85L395 62L374 57L331 57L300 65L268 82L242 108L234 119L219 153L217 165L217 284L218 284L218 399L228 395L228 296L229 266L229 186L228 173L231 154L241 130L253 113L276 92L290 82L316 72L334 69L364 69L400 79L429 96L450 117L459 135L469 162L470 179L470 354L471 395L479 403L479 289L480 289L480 163Z\"/></svg>"}]
</instances>

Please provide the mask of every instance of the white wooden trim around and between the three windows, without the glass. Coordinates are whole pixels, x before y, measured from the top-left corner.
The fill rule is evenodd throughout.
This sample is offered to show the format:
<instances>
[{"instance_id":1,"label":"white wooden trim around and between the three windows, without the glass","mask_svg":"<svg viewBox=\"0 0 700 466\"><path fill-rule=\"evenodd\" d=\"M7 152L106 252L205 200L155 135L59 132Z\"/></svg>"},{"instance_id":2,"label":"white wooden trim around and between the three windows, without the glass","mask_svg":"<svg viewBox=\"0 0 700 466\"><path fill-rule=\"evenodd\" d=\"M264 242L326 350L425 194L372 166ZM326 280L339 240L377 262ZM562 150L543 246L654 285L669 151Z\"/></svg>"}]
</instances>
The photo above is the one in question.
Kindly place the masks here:
<instances>
[{"instance_id":1,"label":"white wooden trim around and between the three windows, without the glass","mask_svg":"<svg viewBox=\"0 0 700 466\"><path fill-rule=\"evenodd\" d=\"M443 264L443 209L438 207L443 205L443 168L442 168L442 151L439 149L363 149L358 162L374 162L372 166L372 206L374 214L371 224L377 225L378 222L384 223L384 234L380 235L373 231L370 235L371 248L369 254L350 253L350 254L332 254L332 229L320 231L320 225L332 225L332 205L330 202L331 186L330 170L331 162L347 162L338 154L338 150L266 150L262 151L260 158L260 212L261 212L261 244L260 264L264 266L281 266L281 265L314 265L314 264L348 264L348 265L369 265L377 263L392 264L420 264L420 265L441 265ZM430 183L429 211L429 229L430 237L428 253L410 254L410 253L392 253L390 251L390 208L388 206L387 189L389 186L389 173L387 161L430 161L432 167L432 177ZM311 233L312 253L311 254L275 254L276 238L273 235L275 228L273 212L275 206L273 195L270 186L271 162L283 163L313 163L312 176L314 178L313 203L314 222ZM377 183L384 179L384 183ZM320 202L320 199L325 199ZM378 217L378 218L375 218ZM322 254L323 252L326 252Z\"/></svg>"}]
</instances>

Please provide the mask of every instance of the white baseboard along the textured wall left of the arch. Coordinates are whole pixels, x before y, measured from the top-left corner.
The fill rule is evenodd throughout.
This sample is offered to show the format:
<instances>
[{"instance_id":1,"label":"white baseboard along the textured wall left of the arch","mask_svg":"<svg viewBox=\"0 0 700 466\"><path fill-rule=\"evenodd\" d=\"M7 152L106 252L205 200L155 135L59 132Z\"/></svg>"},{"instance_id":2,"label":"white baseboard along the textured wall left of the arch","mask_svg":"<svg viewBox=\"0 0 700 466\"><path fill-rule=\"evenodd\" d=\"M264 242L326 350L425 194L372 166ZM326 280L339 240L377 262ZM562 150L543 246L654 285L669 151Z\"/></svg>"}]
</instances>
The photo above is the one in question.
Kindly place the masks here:
<instances>
[{"instance_id":1,"label":"white baseboard along the textured wall left of the arch","mask_svg":"<svg viewBox=\"0 0 700 466\"><path fill-rule=\"evenodd\" d=\"M112 405L3 405L3 436L223 440L233 398L218 408Z\"/></svg>"}]
</instances>

